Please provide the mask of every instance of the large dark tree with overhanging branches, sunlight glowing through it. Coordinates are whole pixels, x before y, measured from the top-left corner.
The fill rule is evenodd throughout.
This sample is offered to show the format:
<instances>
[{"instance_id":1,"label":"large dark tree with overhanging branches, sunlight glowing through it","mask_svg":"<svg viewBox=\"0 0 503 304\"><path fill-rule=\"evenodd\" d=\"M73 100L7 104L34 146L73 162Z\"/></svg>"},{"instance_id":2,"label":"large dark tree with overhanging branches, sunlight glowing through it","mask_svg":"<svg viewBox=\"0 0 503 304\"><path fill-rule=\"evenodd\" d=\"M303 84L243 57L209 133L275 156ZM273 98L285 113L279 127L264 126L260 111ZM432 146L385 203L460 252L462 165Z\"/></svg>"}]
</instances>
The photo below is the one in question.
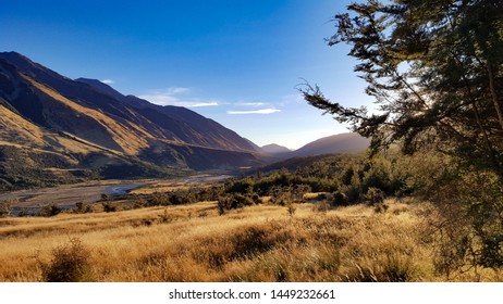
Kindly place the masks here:
<instances>
[{"instance_id":1,"label":"large dark tree with overhanging branches, sunlight glowing through it","mask_svg":"<svg viewBox=\"0 0 503 304\"><path fill-rule=\"evenodd\" d=\"M308 84L305 99L371 137L372 151L434 147L503 177L503 2L369 0L347 10L327 41L352 47L380 113L345 107Z\"/></svg>"}]
</instances>

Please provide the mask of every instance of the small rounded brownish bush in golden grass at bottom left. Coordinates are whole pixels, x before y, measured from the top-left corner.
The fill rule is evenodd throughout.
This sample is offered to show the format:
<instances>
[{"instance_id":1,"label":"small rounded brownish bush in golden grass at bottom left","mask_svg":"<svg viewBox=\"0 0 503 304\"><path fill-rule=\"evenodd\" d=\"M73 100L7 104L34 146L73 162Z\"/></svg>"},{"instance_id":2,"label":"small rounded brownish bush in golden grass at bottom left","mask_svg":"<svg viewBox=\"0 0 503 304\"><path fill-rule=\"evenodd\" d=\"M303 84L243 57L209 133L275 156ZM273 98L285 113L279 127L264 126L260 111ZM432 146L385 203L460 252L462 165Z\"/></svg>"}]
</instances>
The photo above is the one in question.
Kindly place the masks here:
<instances>
[{"instance_id":1,"label":"small rounded brownish bush in golden grass at bottom left","mask_svg":"<svg viewBox=\"0 0 503 304\"><path fill-rule=\"evenodd\" d=\"M93 281L89 251L77 238L52 250L49 263L40 263L42 279L46 282L87 282Z\"/></svg>"}]
</instances>

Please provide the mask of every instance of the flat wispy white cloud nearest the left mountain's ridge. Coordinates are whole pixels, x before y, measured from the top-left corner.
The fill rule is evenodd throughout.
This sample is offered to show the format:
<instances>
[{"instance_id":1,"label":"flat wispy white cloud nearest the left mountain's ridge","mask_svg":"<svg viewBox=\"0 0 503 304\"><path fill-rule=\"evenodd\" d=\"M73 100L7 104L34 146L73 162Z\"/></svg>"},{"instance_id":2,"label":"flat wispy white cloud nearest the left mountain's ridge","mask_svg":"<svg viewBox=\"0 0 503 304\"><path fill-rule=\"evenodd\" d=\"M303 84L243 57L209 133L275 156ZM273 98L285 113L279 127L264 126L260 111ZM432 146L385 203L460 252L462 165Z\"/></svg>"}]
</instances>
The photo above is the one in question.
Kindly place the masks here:
<instances>
[{"instance_id":1,"label":"flat wispy white cloud nearest the left mountain's ridge","mask_svg":"<svg viewBox=\"0 0 503 304\"><path fill-rule=\"evenodd\" d=\"M185 107L201 107L201 106L217 106L217 100L203 100L194 98L182 98L180 94L191 92L189 88L172 87L163 90L154 90L146 94L139 96L151 103L159 105L177 105Z\"/></svg>"}]
</instances>

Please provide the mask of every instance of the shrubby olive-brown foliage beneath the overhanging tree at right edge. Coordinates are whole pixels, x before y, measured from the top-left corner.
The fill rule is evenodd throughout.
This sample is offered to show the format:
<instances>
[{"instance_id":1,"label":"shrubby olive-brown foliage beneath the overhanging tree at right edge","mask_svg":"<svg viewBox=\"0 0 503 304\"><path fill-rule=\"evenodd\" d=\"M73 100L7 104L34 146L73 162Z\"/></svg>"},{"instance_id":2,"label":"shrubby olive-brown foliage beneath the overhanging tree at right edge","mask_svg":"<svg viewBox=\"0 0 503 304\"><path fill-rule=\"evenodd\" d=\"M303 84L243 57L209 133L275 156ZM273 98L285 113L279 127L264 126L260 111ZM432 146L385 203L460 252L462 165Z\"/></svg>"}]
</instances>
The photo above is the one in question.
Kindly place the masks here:
<instances>
[{"instance_id":1,"label":"shrubby olive-brown foliage beneath the overhanging tree at right edge","mask_svg":"<svg viewBox=\"0 0 503 304\"><path fill-rule=\"evenodd\" d=\"M435 199L440 219L435 265L450 274L465 267L503 267L503 188L494 173L462 172L440 180Z\"/></svg>"}]
</instances>

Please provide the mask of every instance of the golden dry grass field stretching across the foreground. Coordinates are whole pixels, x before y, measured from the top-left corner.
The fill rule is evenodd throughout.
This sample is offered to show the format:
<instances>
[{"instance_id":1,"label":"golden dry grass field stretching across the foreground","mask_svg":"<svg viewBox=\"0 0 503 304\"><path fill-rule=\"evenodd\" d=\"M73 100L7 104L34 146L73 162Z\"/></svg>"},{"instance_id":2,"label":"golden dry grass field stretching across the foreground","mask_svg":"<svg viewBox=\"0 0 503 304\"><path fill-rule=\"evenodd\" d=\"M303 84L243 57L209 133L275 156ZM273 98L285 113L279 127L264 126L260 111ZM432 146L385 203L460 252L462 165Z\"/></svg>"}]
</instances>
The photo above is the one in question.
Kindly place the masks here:
<instances>
[{"instance_id":1,"label":"golden dry grass field stretching across the foreground","mask_svg":"<svg viewBox=\"0 0 503 304\"><path fill-rule=\"evenodd\" d=\"M434 271L427 203L254 205L216 202L0 219L0 281L502 281ZM62 271L61 271L62 270Z\"/></svg>"}]
</instances>

